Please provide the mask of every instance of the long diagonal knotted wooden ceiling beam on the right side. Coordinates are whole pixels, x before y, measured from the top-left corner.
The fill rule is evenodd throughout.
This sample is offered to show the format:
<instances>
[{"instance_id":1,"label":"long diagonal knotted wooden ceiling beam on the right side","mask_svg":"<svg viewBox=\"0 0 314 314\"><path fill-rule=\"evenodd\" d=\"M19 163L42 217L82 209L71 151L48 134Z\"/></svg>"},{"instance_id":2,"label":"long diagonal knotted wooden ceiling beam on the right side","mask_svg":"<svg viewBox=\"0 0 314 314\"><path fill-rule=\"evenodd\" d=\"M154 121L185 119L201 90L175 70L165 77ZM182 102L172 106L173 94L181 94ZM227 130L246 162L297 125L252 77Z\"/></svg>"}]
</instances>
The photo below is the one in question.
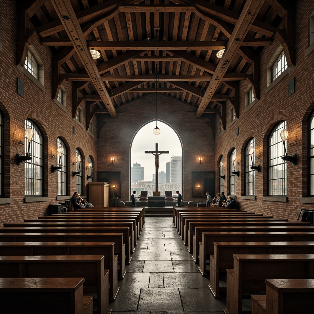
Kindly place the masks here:
<instances>
[{"instance_id":1,"label":"long diagonal knotted wooden ceiling beam on the right side","mask_svg":"<svg viewBox=\"0 0 314 314\"><path fill-rule=\"evenodd\" d=\"M237 50L240 47L241 41L243 41L247 32L250 30L250 26L252 25L264 1L265 0L246 1L242 9L241 15L238 19L238 23L236 24L229 39L230 44L227 45L227 48L225 49L225 52L215 70L213 78L208 84L204 97L198 106L198 110L196 112L197 117L200 117L202 115L209 101L211 100L212 95L214 95L219 84L223 81L223 77L228 70L230 60L236 55Z\"/></svg>"}]
</instances>

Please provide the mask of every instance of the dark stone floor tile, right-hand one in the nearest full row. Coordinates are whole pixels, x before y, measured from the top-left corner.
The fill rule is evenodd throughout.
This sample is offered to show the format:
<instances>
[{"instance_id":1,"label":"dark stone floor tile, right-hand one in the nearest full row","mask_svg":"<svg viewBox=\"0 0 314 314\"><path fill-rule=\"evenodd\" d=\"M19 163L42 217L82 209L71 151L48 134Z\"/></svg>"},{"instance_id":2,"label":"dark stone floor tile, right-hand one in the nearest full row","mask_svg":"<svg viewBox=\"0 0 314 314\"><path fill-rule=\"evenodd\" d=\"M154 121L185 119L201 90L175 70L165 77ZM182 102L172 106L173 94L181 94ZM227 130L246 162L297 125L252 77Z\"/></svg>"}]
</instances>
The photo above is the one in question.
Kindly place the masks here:
<instances>
[{"instance_id":1,"label":"dark stone floor tile, right-hand one in the nearest full row","mask_svg":"<svg viewBox=\"0 0 314 314\"><path fill-rule=\"evenodd\" d=\"M207 288L179 288L184 311L223 311L226 298L215 300Z\"/></svg>"}]
</instances>

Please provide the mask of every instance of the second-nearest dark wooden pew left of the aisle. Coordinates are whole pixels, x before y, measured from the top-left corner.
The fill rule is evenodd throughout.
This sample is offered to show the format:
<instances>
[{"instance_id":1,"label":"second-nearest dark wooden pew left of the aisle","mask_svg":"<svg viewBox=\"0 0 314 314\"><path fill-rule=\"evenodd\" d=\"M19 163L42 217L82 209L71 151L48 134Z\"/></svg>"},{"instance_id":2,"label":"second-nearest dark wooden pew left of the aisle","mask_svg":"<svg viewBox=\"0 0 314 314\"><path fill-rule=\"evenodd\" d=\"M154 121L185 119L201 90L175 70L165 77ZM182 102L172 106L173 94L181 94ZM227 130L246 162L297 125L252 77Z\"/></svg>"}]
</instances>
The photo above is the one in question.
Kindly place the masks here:
<instances>
[{"instance_id":1,"label":"second-nearest dark wooden pew left of the aisle","mask_svg":"<svg viewBox=\"0 0 314 314\"><path fill-rule=\"evenodd\" d=\"M0 256L0 277L84 277L84 292L97 292L97 314L110 314L108 273L102 255Z\"/></svg>"}]
</instances>

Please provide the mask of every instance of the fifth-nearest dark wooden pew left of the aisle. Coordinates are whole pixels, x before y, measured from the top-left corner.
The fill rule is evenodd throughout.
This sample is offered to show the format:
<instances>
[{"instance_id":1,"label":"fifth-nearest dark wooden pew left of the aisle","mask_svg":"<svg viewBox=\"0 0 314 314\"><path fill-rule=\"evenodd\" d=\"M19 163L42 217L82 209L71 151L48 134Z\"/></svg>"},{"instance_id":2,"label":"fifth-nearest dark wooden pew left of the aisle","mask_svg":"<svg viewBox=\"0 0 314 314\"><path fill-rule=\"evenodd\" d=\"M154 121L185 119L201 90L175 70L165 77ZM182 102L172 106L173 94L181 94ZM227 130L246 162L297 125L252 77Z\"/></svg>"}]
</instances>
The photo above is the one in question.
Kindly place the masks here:
<instances>
[{"instance_id":1,"label":"fifth-nearest dark wooden pew left of the aisle","mask_svg":"<svg viewBox=\"0 0 314 314\"><path fill-rule=\"evenodd\" d=\"M129 236L130 227L122 226L111 226L111 227L4 227L0 228L0 233L37 233L37 232L47 232L47 233L123 233L123 243L125 244L125 264L130 264L131 262L131 238Z\"/></svg>"}]
</instances>

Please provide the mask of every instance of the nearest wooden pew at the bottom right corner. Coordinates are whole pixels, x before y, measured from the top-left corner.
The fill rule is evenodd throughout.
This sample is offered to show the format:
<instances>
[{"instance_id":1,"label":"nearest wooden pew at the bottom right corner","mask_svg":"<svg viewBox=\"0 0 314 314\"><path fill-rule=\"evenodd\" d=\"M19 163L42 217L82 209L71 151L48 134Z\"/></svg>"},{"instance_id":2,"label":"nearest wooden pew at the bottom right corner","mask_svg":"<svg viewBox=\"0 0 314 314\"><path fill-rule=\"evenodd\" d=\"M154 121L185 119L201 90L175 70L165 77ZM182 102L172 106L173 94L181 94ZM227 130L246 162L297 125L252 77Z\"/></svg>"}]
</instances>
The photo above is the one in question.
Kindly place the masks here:
<instances>
[{"instance_id":1,"label":"nearest wooden pew at the bottom right corner","mask_svg":"<svg viewBox=\"0 0 314 314\"><path fill-rule=\"evenodd\" d=\"M314 279L265 279L266 295L251 295L252 314L302 313L314 308Z\"/></svg>"}]
</instances>

